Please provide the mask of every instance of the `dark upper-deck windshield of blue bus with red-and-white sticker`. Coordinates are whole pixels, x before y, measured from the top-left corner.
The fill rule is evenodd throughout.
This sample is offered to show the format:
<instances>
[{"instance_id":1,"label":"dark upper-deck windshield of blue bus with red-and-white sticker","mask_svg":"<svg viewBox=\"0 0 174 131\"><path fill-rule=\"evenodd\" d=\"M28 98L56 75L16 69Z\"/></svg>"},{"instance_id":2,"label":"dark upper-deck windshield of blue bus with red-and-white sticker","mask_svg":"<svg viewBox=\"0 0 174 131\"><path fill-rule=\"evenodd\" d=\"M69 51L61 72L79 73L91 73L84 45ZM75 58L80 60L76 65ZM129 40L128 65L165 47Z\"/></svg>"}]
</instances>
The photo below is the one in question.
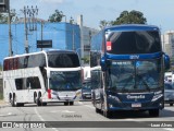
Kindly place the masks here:
<instances>
[{"instance_id":1,"label":"dark upper-deck windshield of blue bus with red-and-white sticker","mask_svg":"<svg viewBox=\"0 0 174 131\"><path fill-rule=\"evenodd\" d=\"M161 51L158 31L111 32L105 33L105 38L109 53L133 55Z\"/></svg>"}]
</instances>

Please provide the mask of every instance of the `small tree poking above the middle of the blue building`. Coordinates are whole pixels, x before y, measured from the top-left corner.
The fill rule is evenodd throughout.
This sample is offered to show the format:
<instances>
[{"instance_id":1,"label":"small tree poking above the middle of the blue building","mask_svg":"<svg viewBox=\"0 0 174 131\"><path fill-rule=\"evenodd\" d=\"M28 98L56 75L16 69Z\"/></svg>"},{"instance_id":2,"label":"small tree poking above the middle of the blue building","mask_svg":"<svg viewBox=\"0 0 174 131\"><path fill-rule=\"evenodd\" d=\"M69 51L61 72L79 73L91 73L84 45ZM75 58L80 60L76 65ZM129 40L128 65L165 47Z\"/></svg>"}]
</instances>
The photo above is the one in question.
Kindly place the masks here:
<instances>
[{"instance_id":1,"label":"small tree poking above the middle of the blue building","mask_svg":"<svg viewBox=\"0 0 174 131\"><path fill-rule=\"evenodd\" d=\"M64 16L62 11L55 10L55 12L49 16L49 22L61 22Z\"/></svg>"}]
</instances>

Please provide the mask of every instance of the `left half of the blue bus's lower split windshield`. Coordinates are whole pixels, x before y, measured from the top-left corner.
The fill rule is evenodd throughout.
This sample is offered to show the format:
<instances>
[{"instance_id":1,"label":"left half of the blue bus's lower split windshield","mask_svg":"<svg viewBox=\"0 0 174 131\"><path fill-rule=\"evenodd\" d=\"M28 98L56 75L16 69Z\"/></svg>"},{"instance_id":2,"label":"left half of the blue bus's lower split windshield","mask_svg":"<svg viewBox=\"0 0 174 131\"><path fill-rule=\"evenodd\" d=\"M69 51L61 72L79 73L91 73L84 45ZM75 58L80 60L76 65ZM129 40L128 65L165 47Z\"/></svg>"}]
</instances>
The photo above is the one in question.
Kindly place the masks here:
<instances>
[{"instance_id":1,"label":"left half of the blue bus's lower split windshield","mask_svg":"<svg viewBox=\"0 0 174 131\"><path fill-rule=\"evenodd\" d=\"M108 87L112 90L130 90L135 86L133 61L112 61L108 70Z\"/></svg>"}]
</instances>

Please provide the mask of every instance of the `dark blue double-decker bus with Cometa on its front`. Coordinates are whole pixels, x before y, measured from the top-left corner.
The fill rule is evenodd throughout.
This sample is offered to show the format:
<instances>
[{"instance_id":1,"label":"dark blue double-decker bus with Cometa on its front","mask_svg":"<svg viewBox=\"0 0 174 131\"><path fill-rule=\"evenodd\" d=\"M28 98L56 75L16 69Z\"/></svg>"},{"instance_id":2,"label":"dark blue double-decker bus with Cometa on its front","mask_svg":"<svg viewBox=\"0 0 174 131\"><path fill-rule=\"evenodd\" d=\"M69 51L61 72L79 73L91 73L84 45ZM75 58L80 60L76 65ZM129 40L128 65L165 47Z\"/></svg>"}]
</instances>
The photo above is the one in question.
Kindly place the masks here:
<instances>
[{"instance_id":1,"label":"dark blue double-decker bus with Cometa on its front","mask_svg":"<svg viewBox=\"0 0 174 131\"><path fill-rule=\"evenodd\" d=\"M90 71L96 112L164 108L164 70L170 58L162 51L157 26L126 24L105 27L91 41Z\"/></svg>"}]
</instances>

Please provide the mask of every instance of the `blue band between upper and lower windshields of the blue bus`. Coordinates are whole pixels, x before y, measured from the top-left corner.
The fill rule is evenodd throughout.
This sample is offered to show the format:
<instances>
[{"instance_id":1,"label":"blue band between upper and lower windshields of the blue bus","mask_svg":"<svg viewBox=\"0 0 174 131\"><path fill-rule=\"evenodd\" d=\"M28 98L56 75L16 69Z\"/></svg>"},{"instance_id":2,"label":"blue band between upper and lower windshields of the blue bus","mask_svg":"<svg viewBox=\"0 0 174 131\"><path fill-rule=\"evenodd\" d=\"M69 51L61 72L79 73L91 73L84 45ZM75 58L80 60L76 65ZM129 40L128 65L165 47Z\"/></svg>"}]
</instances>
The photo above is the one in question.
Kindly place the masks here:
<instances>
[{"instance_id":1,"label":"blue band between upper and lower windshields of the blue bus","mask_svg":"<svg viewBox=\"0 0 174 131\"><path fill-rule=\"evenodd\" d=\"M148 55L111 55L107 53L107 59L113 60L133 60L133 59L156 59L162 57L163 52L148 53Z\"/></svg>"}]
</instances>

